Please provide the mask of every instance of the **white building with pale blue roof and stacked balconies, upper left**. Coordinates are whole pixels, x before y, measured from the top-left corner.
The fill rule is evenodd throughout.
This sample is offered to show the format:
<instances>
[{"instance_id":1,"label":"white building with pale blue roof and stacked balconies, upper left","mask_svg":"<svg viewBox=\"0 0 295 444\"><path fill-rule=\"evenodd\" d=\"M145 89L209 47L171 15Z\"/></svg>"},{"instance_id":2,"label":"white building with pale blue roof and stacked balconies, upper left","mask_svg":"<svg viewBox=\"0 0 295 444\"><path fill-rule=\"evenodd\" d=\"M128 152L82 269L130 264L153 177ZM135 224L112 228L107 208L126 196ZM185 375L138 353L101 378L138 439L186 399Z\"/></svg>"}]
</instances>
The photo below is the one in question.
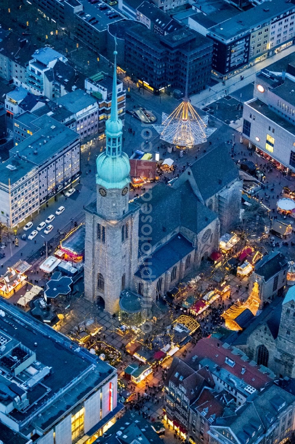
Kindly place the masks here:
<instances>
[{"instance_id":1,"label":"white building with pale blue roof and stacked balconies, upper left","mask_svg":"<svg viewBox=\"0 0 295 444\"><path fill-rule=\"evenodd\" d=\"M46 91L44 91L44 76L46 71L53 68L58 60L65 63L67 59L49 47L37 49L32 57L33 59L29 61L27 66L27 87L30 88L33 94L47 95Z\"/></svg>"}]
</instances>

